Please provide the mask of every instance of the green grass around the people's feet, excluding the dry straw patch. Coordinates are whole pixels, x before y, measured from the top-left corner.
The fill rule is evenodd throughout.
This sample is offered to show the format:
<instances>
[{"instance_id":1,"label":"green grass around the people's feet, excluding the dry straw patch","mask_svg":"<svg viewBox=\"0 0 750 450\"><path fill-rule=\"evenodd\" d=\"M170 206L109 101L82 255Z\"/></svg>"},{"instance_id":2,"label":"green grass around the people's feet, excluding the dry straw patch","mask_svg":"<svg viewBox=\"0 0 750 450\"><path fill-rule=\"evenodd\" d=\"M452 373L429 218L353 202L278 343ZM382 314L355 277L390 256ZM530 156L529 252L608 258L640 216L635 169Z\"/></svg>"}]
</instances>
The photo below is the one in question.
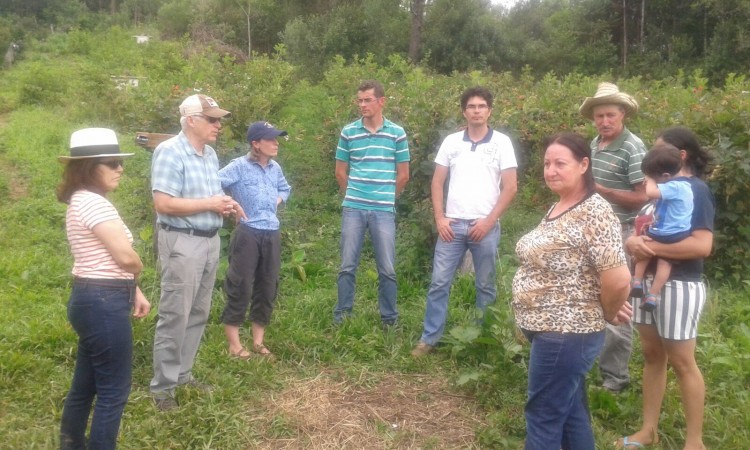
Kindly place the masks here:
<instances>
[{"instance_id":1,"label":"green grass around the people's feet, excluding the dry straw patch","mask_svg":"<svg viewBox=\"0 0 750 450\"><path fill-rule=\"evenodd\" d=\"M57 203L53 187L60 168L55 156L64 152L61 129L71 125L54 114L25 110L7 117L0 135L3 185L28 180L19 198L0 204L3 227L0 242L0 291L4 314L0 318L0 435L5 448L54 448L65 393L75 357L75 333L67 323L65 303L69 292L70 256L63 230L64 205ZM45 122L49 132L32 128ZM29 136L26 144L22 136ZM41 143L47 142L46 146ZM138 242L147 263L144 291L158 302L158 274L150 248L151 209L148 202L149 155L140 149L128 160L127 179L113 195ZM291 152L290 152L291 153ZM282 161L284 163L284 161ZM293 167L293 164L289 165ZM307 173L313 186L328 174ZM294 175L290 171L290 178ZM294 184L294 183L293 183ZM310 188L311 189L311 188ZM155 314L134 321L135 358L133 391L123 418L121 448L255 448L270 447L284 439L306 442L299 424L271 407L276 396L307 380L323 376L331 382L373 387L389 374L447 379L460 384L450 390L468 395L483 411L483 425L475 428L475 445L518 448L523 440L523 403L527 349L512 332L508 311L509 282L514 272L513 244L538 220L537 211L515 205L504 222L498 303L481 333L473 332L473 282L456 279L451 297L446 344L434 357L413 360L409 351L419 339L429 274L401 280L398 327L383 333L376 307L377 276L371 248L365 249L358 278L356 315L340 327L332 323L338 264L338 199L319 190L302 199L316 198L313 208L294 201L283 213L284 261L279 303L268 330L267 344L278 355L275 364L251 360L244 363L226 356L219 316L223 306L220 281L211 318L196 365L196 375L216 386L210 394L183 390L179 412L159 414L148 393L151 345ZM294 198L294 197L293 197ZM302 256L293 259L295 251ZM298 267L305 268L304 281ZM412 277L413 278L413 277ZM750 373L750 307L748 290L724 287L711 292L711 302L701 327L698 358L707 380L706 444L710 448L742 448L750 429L746 408ZM458 327L458 328L456 328ZM243 330L243 333L246 330ZM479 336L478 339L476 336ZM245 339L248 339L245 336ZM642 360L636 342L631 364L633 387L613 396L590 388L592 413L601 448L619 433L634 430L640 417ZM682 442L684 418L679 393L670 377L662 413L662 444L676 448ZM391 447L408 446L403 434L375 427ZM439 436L427 436L425 448L441 447ZM308 444L313 445L311 441Z\"/></svg>"}]
</instances>

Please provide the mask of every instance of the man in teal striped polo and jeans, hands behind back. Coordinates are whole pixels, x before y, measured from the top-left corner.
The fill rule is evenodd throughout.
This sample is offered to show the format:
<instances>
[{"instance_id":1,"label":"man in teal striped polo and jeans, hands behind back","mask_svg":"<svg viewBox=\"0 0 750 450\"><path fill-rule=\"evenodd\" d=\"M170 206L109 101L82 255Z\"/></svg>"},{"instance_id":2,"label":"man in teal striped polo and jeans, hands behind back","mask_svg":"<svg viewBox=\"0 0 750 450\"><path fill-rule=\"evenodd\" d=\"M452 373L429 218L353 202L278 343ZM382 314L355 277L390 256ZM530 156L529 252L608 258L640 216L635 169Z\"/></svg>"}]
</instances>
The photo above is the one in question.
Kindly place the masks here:
<instances>
[{"instance_id":1,"label":"man in teal striped polo and jeans, hands behind back","mask_svg":"<svg viewBox=\"0 0 750 450\"><path fill-rule=\"evenodd\" d=\"M341 130L336 181L344 193L341 269L335 323L352 314L357 267L369 231L378 269L378 306L384 327L398 319L396 307L396 197L409 181L409 143L404 129L383 117L385 90L375 80L357 89L362 117Z\"/></svg>"}]
</instances>

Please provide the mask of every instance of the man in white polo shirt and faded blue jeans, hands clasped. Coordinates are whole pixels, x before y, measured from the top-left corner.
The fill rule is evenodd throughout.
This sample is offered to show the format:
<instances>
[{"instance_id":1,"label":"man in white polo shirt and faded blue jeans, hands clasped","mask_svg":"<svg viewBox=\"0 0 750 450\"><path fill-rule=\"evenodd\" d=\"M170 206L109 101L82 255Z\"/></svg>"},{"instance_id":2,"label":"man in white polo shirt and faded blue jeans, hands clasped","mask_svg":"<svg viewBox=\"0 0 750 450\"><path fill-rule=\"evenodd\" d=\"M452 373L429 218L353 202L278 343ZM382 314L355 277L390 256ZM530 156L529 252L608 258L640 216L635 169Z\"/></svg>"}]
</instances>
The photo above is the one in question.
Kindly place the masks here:
<instances>
[{"instance_id":1,"label":"man in white polo shirt and faded blue jeans, hands clasped","mask_svg":"<svg viewBox=\"0 0 750 450\"><path fill-rule=\"evenodd\" d=\"M516 195L516 155L510 138L488 125L492 93L482 87L461 95L464 131L443 140L435 157L432 206L440 235L427 293L424 331L412 356L432 351L443 335L456 270L469 250L474 262L476 306L484 314L495 302L495 262L500 217ZM445 207L444 185L450 175Z\"/></svg>"}]
</instances>

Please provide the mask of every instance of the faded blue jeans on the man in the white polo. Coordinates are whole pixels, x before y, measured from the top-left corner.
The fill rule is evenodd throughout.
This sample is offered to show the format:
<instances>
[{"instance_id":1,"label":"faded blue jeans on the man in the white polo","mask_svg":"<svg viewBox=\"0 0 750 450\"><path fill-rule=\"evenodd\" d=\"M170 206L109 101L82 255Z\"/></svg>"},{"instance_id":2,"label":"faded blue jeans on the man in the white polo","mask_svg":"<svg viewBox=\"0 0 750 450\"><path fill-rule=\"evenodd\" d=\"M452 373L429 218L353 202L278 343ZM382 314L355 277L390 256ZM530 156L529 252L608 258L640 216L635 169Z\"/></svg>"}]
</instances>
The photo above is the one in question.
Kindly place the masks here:
<instances>
[{"instance_id":1,"label":"faded blue jeans on the man in the white polo","mask_svg":"<svg viewBox=\"0 0 750 450\"><path fill-rule=\"evenodd\" d=\"M448 316L448 298L453 278L466 254L471 252L477 296L477 309L484 313L487 306L495 302L495 261L497 244L500 241L500 226L495 226L479 242L469 239L471 220L454 219L451 223L453 240L446 242L438 238L435 257L432 261L432 281L427 291L427 306L424 313L424 331L421 342L435 345L445 330Z\"/></svg>"}]
</instances>

